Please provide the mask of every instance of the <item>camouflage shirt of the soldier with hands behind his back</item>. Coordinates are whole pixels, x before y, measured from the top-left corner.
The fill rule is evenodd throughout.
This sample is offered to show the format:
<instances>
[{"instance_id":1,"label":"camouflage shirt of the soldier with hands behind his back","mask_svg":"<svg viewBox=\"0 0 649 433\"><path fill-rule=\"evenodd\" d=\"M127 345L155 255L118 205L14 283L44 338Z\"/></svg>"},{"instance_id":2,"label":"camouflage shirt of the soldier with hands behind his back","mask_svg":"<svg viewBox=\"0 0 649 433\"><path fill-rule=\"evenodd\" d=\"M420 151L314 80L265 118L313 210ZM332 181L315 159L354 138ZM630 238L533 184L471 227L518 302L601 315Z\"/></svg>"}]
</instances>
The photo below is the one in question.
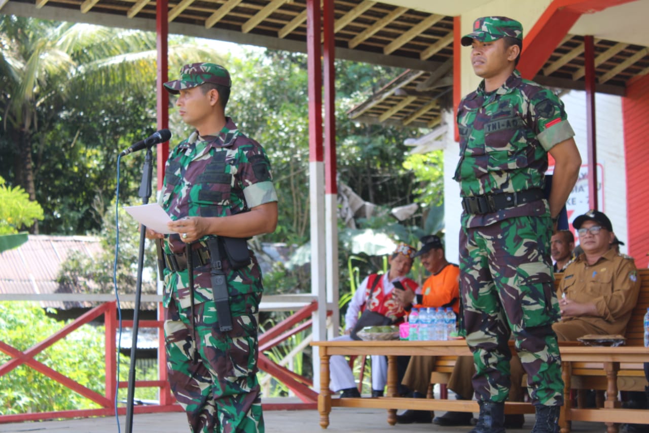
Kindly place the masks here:
<instances>
[{"instance_id":1,"label":"camouflage shirt of the soldier with hands behind his back","mask_svg":"<svg viewBox=\"0 0 649 433\"><path fill-rule=\"evenodd\" d=\"M458 109L459 163L454 179L461 196L545 187L547 152L574 136L563 103L550 90L515 70L493 92L478 90ZM464 213L464 227L479 227L524 215L549 215L545 200L486 215Z\"/></svg>"}]
</instances>

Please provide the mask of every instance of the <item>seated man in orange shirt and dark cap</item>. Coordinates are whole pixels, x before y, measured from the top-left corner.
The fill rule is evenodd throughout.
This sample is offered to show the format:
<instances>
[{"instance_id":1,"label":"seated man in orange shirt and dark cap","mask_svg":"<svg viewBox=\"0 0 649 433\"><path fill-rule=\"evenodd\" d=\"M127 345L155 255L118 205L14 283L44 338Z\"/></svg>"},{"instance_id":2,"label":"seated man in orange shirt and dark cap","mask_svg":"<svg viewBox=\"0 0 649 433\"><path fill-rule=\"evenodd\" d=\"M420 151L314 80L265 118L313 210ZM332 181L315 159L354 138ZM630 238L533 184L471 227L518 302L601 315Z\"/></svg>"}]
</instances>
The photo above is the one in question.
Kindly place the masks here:
<instances>
[{"instance_id":1,"label":"seated man in orange shirt and dark cap","mask_svg":"<svg viewBox=\"0 0 649 433\"><path fill-rule=\"evenodd\" d=\"M456 315L459 313L459 268L458 265L448 263L441 239L435 235L428 235L419 239L422 247L415 253L420 257L421 264L430 272L424 282L421 295L411 291L395 289L395 296L402 305L414 304L415 308L447 308L451 307ZM435 367L434 356L413 356L408 363L408 369L402 384L413 391L413 397L426 397L426 390L430 383L430 373ZM432 413L427 410L406 410L397 415L397 423L430 423Z\"/></svg>"}]
</instances>

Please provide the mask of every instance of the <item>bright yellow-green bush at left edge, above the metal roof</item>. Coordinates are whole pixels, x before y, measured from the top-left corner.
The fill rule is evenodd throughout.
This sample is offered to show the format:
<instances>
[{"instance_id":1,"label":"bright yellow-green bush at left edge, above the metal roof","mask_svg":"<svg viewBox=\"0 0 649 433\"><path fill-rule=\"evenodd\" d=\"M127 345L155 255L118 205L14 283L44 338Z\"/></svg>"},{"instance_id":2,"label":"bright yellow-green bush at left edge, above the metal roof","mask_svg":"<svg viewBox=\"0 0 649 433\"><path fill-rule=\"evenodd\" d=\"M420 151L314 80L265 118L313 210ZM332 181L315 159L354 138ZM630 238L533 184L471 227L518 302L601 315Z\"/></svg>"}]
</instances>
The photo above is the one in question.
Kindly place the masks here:
<instances>
[{"instance_id":1,"label":"bright yellow-green bush at left edge, above the metal roof","mask_svg":"<svg viewBox=\"0 0 649 433\"><path fill-rule=\"evenodd\" d=\"M22 226L31 226L34 219L43 219L43 209L30 202L21 187L8 187L0 176L0 235L18 233Z\"/></svg>"}]
</instances>

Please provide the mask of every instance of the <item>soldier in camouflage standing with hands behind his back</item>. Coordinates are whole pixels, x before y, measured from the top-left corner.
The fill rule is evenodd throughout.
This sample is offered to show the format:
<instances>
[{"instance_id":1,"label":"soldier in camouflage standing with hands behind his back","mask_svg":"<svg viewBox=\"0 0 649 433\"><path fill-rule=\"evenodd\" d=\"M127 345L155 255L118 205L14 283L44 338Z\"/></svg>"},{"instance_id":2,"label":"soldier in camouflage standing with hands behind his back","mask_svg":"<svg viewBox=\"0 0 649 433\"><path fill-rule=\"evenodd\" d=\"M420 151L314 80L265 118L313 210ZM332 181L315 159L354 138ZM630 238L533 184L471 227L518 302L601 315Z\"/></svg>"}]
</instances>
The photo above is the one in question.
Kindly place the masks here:
<instances>
[{"instance_id":1,"label":"soldier in camouflage standing with hands behind his back","mask_svg":"<svg viewBox=\"0 0 649 433\"><path fill-rule=\"evenodd\" d=\"M484 79L459 104L460 159L454 176L464 209L461 321L476 365L473 386L480 404L472 431L504 431L511 335L537 412L532 431L555 432L563 381L552 331L558 309L550 235L581 158L561 101L515 69L522 48L518 21L479 18L461 44L472 46L473 70ZM548 198L543 192L547 153L556 161Z\"/></svg>"}]
</instances>

